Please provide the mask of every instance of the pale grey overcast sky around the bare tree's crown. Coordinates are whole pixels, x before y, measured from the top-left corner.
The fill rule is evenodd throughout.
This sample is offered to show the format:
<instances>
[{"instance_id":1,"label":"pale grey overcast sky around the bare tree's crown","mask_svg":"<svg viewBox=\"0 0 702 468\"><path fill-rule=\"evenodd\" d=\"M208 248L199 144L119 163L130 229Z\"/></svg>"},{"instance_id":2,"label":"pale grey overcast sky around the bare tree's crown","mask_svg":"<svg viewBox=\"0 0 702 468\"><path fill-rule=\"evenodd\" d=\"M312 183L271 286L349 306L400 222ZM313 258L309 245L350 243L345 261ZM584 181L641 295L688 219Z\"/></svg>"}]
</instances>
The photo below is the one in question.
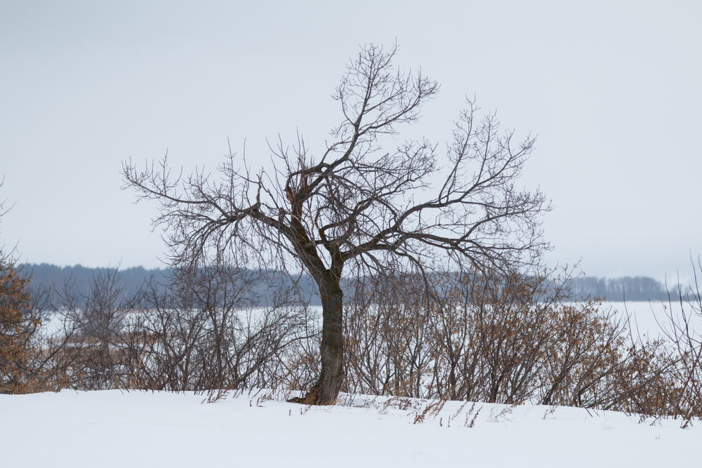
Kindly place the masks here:
<instances>
[{"instance_id":1,"label":"pale grey overcast sky around the bare tree's crown","mask_svg":"<svg viewBox=\"0 0 702 468\"><path fill-rule=\"evenodd\" d=\"M360 44L442 83L406 137L440 145L474 96L538 135L519 185L555 207L550 265L689 276L702 253L702 2L0 0L0 246L20 260L162 267L155 203L121 163L190 173L266 138L324 149Z\"/></svg>"}]
</instances>

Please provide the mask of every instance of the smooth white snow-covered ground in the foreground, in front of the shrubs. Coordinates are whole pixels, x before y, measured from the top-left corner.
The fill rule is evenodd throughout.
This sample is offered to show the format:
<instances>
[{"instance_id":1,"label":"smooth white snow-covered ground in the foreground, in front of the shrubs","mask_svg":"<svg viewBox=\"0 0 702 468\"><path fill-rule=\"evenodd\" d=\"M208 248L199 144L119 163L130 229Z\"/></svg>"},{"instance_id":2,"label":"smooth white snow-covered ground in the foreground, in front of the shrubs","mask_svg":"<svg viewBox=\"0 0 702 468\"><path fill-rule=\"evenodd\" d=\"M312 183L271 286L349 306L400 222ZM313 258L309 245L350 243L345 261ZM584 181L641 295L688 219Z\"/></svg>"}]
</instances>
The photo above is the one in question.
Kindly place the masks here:
<instances>
[{"instance_id":1,"label":"smooth white snow-covered ground in the foreground, in front of the shrubs","mask_svg":"<svg viewBox=\"0 0 702 468\"><path fill-rule=\"evenodd\" d=\"M0 395L1 467L694 467L702 422L357 397L308 407L245 392ZM476 416L477 414L477 416ZM449 417L451 418L449 422ZM472 422L472 427L470 423Z\"/></svg>"}]
</instances>

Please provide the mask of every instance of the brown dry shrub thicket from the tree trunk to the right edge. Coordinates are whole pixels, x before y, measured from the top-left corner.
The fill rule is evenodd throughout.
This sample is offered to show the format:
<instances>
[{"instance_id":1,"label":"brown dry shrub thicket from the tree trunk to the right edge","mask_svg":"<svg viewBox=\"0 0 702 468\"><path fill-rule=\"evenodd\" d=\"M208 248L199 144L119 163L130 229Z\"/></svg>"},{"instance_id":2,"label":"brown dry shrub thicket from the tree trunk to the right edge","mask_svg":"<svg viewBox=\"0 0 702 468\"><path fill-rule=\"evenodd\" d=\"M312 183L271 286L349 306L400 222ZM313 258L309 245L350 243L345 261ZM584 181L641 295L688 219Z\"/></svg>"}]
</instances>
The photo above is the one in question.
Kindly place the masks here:
<instances>
[{"instance_id":1,"label":"brown dry shrub thicket from the tree trunk to the right edge","mask_svg":"<svg viewBox=\"0 0 702 468\"><path fill-rule=\"evenodd\" d=\"M701 340L687 326L698 299L665 339L642 340L602 300L576 302L568 276L548 276L356 279L345 303L347 391L702 415Z\"/></svg>"}]
</instances>

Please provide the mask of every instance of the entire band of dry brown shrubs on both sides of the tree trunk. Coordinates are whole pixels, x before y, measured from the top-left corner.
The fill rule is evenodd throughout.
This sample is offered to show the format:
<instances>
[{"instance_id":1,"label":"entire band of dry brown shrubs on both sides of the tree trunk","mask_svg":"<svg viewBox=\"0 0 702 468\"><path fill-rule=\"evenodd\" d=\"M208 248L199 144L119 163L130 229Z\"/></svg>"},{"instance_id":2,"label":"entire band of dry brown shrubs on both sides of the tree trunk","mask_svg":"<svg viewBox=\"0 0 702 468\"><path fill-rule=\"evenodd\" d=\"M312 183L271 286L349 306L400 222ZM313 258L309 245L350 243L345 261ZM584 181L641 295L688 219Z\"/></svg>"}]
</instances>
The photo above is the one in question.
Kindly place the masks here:
<instances>
[{"instance_id":1,"label":"entire band of dry brown shrubs on both sides of the tree trunk","mask_svg":"<svg viewBox=\"0 0 702 468\"><path fill-rule=\"evenodd\" d=\"M294 285L256 307L270 273L183 269L165 292L151 283L126 297L118 272L103 272L88 290L64 288L54 305L62 328L47 336L29 279L2 265L2 392L304 391L319 373L319 316ZM349 281L344 390L604 408L642 421L677 417L684 427L702 416L698 293L681 302L681 314L666 309L662 337L642 339L602 300L575 302L567 277L547 276L405 272Z\"/></svg>"}]
</instances>

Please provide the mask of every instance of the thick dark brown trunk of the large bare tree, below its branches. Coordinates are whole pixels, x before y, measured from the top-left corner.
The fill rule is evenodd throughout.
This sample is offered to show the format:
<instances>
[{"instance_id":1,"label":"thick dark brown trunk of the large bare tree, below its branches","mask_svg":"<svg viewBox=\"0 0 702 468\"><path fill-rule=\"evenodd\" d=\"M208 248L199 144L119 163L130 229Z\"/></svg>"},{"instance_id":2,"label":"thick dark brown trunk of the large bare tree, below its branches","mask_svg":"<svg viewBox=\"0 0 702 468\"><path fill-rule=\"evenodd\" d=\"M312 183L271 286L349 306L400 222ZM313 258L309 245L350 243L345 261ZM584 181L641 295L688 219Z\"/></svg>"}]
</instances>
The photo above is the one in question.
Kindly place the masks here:
<instances>
[{"instance_id":1,"label":"thick dark brown trunk of the large bare tree, below its branches","mask_svg":"<svg viewBox=\"0 0 702 468\"><path fill-rule=\"evenodd\" d=\"M293 398L292 403L333 405L344 380L343 292L338 279L329 275L319 281L322 297L322 373L306 396Z\"/></svg>"}]
</instances>

